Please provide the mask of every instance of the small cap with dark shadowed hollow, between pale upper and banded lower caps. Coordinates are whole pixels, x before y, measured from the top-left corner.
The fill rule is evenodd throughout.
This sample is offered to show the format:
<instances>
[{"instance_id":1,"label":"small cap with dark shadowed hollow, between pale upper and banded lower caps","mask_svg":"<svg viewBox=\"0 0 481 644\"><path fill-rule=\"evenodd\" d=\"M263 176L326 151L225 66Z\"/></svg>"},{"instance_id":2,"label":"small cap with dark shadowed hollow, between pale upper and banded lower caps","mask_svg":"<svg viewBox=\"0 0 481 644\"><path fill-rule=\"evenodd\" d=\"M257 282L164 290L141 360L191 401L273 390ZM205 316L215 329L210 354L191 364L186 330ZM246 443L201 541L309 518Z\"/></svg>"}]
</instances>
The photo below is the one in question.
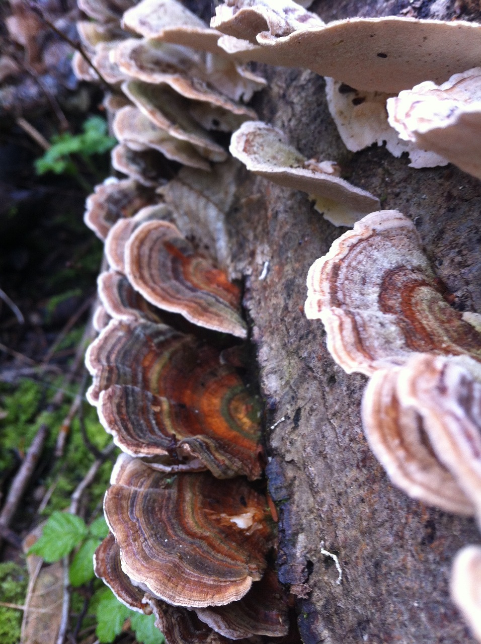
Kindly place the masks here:
<instances>
[{"instance_id":1,"label":"small cap with dark shadowed hollow, between pale upper and banded lower caps","mask_svg":"<svg viewBox=\"0 0 481 644\"><path fill-rule=\"evenodd\" d=\"M147 187L166 183L164 158L155 149L131 150L120 143L111 151L112 166L117 172L135 179Z\"/></svg>"}]
</instances>

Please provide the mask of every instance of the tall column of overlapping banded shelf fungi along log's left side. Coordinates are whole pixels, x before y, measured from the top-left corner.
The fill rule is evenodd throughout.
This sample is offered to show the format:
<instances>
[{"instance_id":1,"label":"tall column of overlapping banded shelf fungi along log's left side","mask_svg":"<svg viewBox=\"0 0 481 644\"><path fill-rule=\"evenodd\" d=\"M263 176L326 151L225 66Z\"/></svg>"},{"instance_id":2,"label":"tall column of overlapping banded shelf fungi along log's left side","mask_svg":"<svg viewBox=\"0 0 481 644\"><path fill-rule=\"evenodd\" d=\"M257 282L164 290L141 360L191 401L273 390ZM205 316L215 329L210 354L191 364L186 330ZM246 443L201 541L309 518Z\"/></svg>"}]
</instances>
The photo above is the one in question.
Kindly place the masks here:
<instances>
[{"instance_id":1,"label":"tall column of overlapping banded shelf fungi along log's left side","mask_svg":"<svg viewBox=\"0 0 481 644\"><path fill-rule=\"evenodd\" d=\"M153 612L167 644L287 641L287 596L268 564L274 522L256 482L258 401L218 348L225 336L216 345L196 330L247 336L227 274L233 162L212 131L256 118L242 101L265 81L174 0L79 6L94 20L79 23L93 66L76 55L74 67L111 85L112 163L127 175L97 186L85 215L108 263L88 399L122 451L95 572L131 609ZM185 166L170 181L166 160Z\"/></svg>"}]
</instances>

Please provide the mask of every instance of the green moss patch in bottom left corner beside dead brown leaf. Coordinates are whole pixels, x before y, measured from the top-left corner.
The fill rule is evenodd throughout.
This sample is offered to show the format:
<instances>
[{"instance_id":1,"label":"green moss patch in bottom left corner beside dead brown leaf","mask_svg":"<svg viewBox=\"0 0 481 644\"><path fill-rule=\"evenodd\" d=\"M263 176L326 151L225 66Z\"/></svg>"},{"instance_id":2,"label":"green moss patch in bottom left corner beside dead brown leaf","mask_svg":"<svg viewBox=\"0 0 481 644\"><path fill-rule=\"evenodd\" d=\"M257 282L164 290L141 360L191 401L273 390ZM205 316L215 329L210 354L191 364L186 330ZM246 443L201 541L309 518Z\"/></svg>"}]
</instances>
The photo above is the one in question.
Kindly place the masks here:
<instances>
[{"instance_id":1,"label":"green moss patch in bottom left corner beside dead brown leaf","mask_svg":"<svg viewBox=\"0 0 481 644\"><path fill-rule=\"evenodd\" d=\"M14 562L0 564L0 601L22 605L28 574L26 568ZM22 611L0 606L0 642L17 644L20 639Z\"/></svg>"}]
</instances>

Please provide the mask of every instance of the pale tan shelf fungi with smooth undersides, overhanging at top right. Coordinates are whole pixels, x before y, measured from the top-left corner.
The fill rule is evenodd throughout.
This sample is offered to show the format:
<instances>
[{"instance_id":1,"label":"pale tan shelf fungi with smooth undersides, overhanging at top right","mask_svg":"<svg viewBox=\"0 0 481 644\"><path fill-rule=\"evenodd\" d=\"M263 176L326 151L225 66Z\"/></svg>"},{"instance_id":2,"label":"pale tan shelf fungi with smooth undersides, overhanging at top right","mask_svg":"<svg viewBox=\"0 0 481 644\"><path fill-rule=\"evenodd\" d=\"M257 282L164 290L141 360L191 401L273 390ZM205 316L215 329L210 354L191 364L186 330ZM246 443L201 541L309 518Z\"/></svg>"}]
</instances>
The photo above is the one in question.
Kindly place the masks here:
<instances>
[{"instance_id":1,"label":"pale tan shelf fungi with smooth undersides, overhanging at top right","mask_svg":"<svg viewBox=\"0 0 481 644\"><path fill-rule=\"evenodd\" d=\"M224 34L218 45L243 61L325 76L351 151L386 142L411 167L452 162L480 178L480 24L395 16L325 24L293 0L226 0L211 24Z\"/></svg>"}]
</instances>

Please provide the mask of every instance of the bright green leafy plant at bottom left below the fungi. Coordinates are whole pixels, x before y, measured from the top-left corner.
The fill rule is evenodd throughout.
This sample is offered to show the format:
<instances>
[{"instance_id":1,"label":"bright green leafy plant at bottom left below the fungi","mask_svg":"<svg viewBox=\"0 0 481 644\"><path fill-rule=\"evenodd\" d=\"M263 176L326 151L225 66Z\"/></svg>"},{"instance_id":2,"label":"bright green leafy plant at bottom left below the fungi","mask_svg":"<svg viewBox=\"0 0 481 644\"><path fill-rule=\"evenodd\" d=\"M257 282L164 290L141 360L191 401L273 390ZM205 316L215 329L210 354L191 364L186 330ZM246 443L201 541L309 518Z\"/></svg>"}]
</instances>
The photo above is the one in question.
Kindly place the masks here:
<instances>
[{"instance_id":1,"label":"bright green leafy plant at bottom left below the fungi","mask_svg":"<svg viewBox=\"0 0 481 644\"><path fill-rule=\"evenodd\" d=\"M103 516L87 526L82 518L66 512L55 511L46 522L42 536L30 548L46 562L54 562L76 550L70 564L69 576L73 587L80 587L95 578L93 553L108 534ZM163 644L164 636L155 627L155 616L131 611L118 601L113 592L100 584L90 600L90 610L95 613L95 634L102 643L113 642L122 631L126 620L137 641L142 644Z\"/></svg>"}]
</instances>

